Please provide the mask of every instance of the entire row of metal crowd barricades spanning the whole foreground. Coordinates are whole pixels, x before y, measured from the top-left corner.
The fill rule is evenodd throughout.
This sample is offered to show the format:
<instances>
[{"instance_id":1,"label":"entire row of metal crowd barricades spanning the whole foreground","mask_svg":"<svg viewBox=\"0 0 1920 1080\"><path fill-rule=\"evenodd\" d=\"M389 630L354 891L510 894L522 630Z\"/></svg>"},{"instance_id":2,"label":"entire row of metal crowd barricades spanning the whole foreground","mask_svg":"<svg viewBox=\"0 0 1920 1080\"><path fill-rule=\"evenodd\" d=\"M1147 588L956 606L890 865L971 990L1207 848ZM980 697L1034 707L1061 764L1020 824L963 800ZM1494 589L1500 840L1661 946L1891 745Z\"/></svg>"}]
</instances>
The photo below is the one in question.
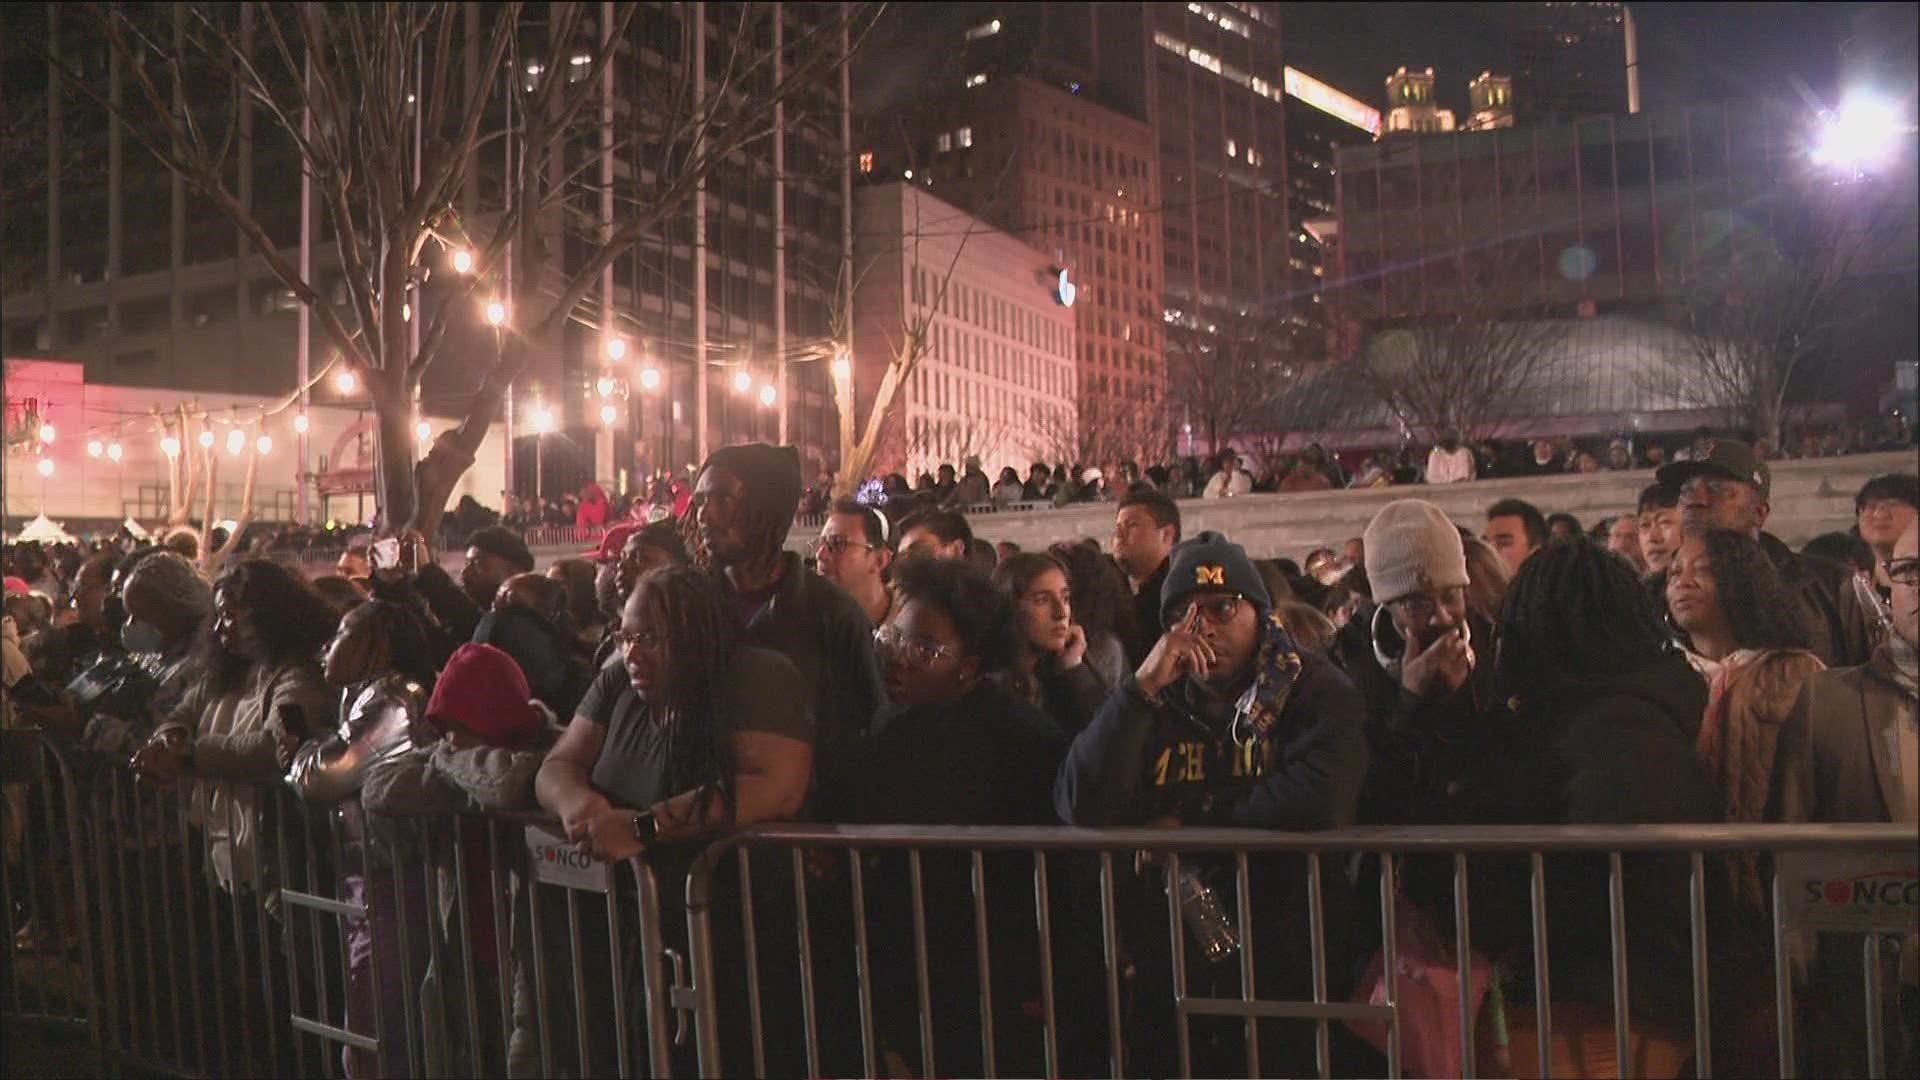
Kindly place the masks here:
<instances>
[{"instance_id":1,"label":"entire row of metal crowd barricades spanning the whole foreground","mask_svg":"<svg viewBox=\"0 0 1920 1080\"><path fill-rule=\"evenodd\" d=\"M1659 1028L1697 1076L1841 1051L1882 1076L1903 1034L1885 949L1920 907L1901 826L774 826L607 867L536 813L161 790L31 730L4 751L0 892L10 930L31 920L4 945L6 1015L77 1036L88 1072L1400 1076L1432 1070L1438 1040L1444 1072L1544 1076L1578 1034L1632 1074L1655 1070ZM1722 965L1736 913L1715 882L1755 855L1766 953ZM1678 867L1678 896L1645 890L1649 859ZM1213 953L1188 880L1225 928ZM1561 938L1569 886L1597 903L1584 949ZM1663 913L1667 965L1640 924ZM1375 934L1357 953L1356 926ZM1511 1061L1486 972L1448 963L1490 938L1524 945L1492 957L1532 1019ZM1386 974L1409 965L1452 986L1444 1020L1430 984ZM1678 980L1670 1015L1636 1005L1647 967ZM1797 1042L1820 994L1859 1011ZM1753 1028L1764 1053L1720 1032L1730 997L1784 1020Z\"/></svg>"}]
</instances>

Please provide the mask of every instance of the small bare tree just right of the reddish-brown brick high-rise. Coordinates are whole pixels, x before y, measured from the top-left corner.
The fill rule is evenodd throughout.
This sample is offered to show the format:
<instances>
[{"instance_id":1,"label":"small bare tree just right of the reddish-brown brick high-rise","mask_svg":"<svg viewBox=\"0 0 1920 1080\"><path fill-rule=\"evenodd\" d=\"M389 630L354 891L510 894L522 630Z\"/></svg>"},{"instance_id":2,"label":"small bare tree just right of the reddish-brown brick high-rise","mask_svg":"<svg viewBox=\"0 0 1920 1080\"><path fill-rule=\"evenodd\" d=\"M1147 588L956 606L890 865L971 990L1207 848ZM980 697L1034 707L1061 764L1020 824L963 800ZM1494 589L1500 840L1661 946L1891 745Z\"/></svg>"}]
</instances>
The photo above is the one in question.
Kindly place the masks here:
<instances>
[{"instance_id":1,"label":"small bare tree just right of the reddish-brown brick high-rise","mask_svg":"<svg viewBox=\"0 0 1920 1080\"><path fill-rule=\"evenodd\" d=\"M1319 327L1292 311L1244 311L1167 327L1169 405L1219 450L1271 415L1325 357Z\"/></svg>"}]
</instances>

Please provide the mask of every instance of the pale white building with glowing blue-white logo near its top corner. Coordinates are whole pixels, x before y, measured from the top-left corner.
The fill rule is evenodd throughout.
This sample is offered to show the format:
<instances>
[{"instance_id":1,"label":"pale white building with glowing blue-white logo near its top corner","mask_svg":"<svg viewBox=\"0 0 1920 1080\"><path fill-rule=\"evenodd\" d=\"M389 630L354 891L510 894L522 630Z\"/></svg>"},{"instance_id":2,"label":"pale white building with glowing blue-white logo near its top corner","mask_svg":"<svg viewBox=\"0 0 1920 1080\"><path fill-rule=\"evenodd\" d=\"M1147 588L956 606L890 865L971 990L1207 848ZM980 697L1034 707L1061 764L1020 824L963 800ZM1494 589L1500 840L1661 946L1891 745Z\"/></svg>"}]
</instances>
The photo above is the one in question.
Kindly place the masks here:
<instances>
[{"instance_id":1,"label":"pale white building with glowing blue-white logo near its top corner","mask_svg":"<svg viewBox=\"0 0 1920 1080\"><path fill-rule=\"evenodd\" d=\"M996 477L1069 459L1083 292L1052 254L912 181L862 186L854 223L860 425L908 334L925 340L891 402L872 471L916 477L979 457Z\"/></svg>"}]
</instances>

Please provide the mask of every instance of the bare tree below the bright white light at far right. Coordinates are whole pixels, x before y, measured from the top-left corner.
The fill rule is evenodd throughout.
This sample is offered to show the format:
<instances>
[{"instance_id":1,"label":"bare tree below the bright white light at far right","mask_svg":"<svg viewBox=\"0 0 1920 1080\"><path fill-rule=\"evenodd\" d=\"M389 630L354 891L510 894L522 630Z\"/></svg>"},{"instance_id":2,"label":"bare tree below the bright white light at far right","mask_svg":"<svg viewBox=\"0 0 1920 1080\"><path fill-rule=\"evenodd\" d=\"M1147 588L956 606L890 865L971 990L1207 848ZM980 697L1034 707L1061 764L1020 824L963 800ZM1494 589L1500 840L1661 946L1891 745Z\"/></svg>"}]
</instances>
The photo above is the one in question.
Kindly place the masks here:
<instances>
[{"instance_id":1,"label":"bare tree below the bright white light at far right","mask_svg":"<svg viewBox=\"0 0 1920 1080\"><path fill-rule=\"evenodd\" d=\"M1747 225L1761 217L1764 227ZM1680 344L1644 382L1780 446L1788 398L1814 361L1845 357L1876 315L1876 275L1912 273L1912 221L1901 221L1895 192L1857 183L1766 215L1718 213L1709 227L1722 242L1688 267L1668 304Z\"/></svg>"}]
</instances>

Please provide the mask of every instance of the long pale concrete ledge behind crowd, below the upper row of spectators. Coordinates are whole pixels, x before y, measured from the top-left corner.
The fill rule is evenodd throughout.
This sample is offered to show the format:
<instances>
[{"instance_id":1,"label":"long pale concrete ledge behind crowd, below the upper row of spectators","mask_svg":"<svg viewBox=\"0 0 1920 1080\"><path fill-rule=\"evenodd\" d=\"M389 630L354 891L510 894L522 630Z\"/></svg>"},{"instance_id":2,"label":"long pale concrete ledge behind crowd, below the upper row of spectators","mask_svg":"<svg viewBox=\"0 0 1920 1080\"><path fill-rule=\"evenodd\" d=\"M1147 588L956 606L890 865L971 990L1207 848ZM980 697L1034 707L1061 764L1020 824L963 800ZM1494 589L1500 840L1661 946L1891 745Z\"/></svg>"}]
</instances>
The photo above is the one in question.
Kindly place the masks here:
<instances>
[{"instance_id":1,"label":"long pale concrete ledge behind crowd, below the upper row of spectators","mask_svg":"<svg viewBox=\"0 0 1920 1080\"><path fill-rule=\"evenodd\" d=\"M1766 530L1799 548L1820 532L1847 528L1853 525L1853 496L1860 484L1882 473L1914 473L1916 467L1920 461L1912 454L1899 452L1778 461L1772 467L1772 517ZM1256 559L1300 559L1313 548L1338 548L1346 538L1359 536L1373 515L1394 500L1428 500L1475 532L1486 521L1486 507L1503 498L1523 498L1542 513L1565 511L1592 527L1601 517L1632 511L1642 488L1651 482L1651 469L1636 469L1440 486L1183 500L1181 523L1188 536L1202 528L1225 532ZM1114 503L979 513L968 515L968 523L975 536L993 542L1012 540L1025 550L1083 536L1104 546L1114 530ZM787 536L787 548L810 552L814 536L818 528L795 528Z\"/></svg>"}]
</instances>

